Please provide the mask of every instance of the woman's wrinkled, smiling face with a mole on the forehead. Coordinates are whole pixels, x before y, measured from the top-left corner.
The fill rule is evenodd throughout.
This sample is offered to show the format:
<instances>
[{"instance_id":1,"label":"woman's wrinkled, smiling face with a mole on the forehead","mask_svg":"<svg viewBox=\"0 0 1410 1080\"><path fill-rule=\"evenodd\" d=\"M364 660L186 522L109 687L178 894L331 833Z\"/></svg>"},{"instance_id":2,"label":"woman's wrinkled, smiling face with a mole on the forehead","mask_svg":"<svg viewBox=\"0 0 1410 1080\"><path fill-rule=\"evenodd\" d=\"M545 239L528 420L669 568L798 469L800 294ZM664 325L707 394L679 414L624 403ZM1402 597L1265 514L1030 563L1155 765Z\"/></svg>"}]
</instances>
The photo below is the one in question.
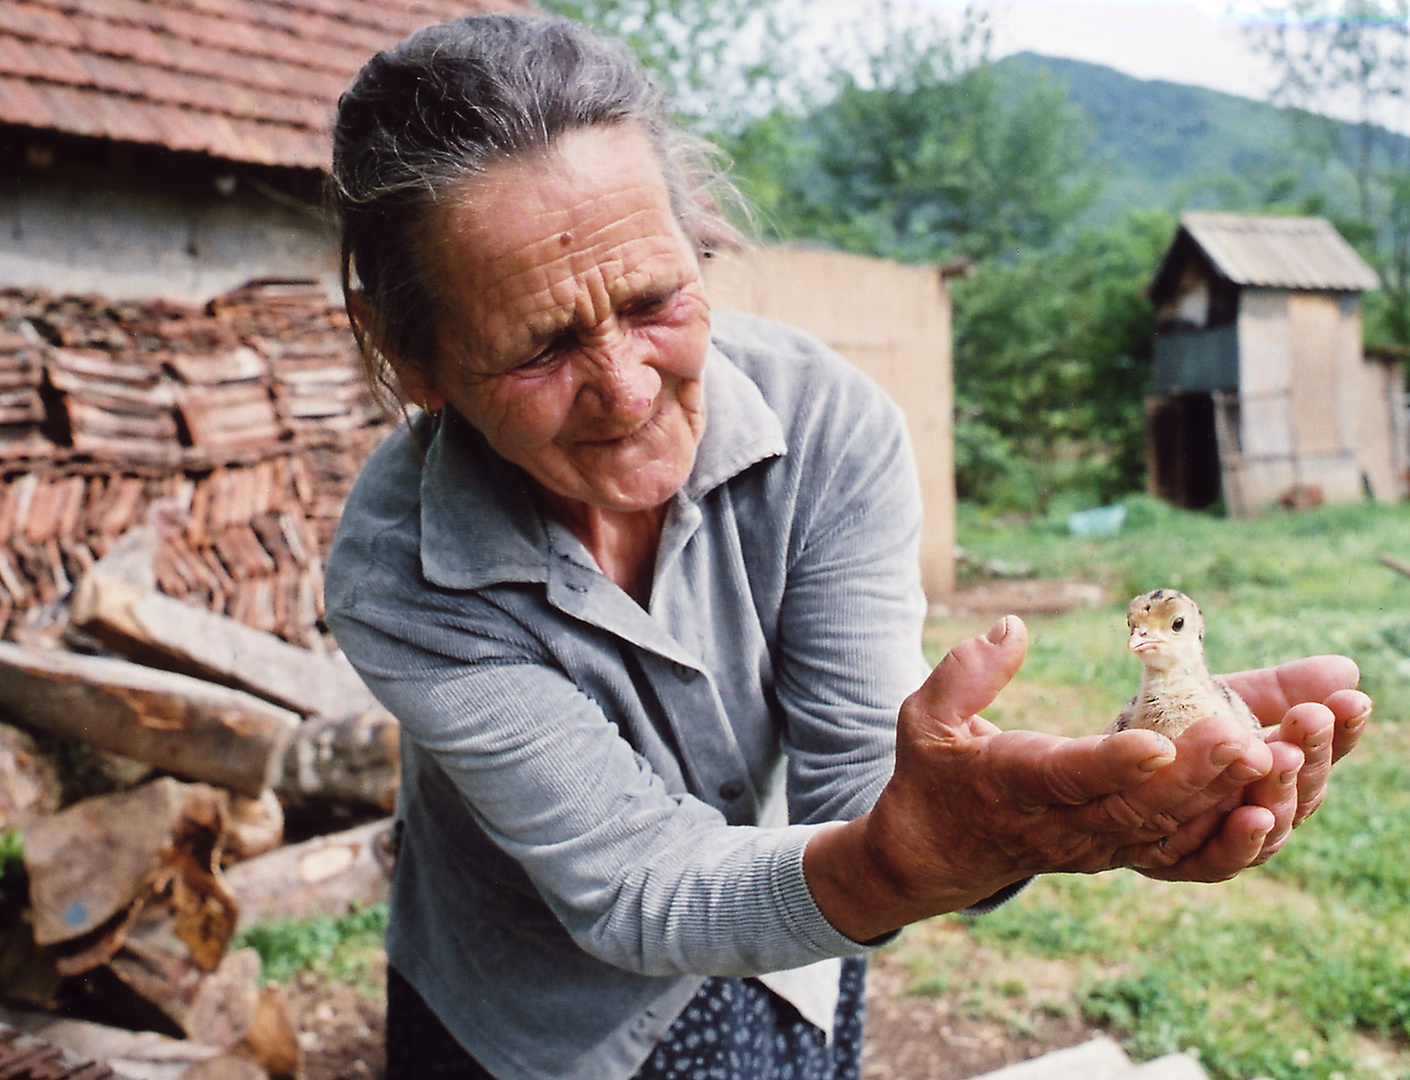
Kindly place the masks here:
<instances>
[{"instance_id":1,"label":"woman's wrinkled, smiling face with a mole on the forehead","mask_svg":"<svg viewBox=\"0 0 1410 1080\"><path fill-rule=\"evenodd\" d=\"M666 502L705 427L709 306L649 138L571 131L468 180L427 226L436 352L400 372L413 399L453 405L557 496Z\"/></svg>"}]
</instances>

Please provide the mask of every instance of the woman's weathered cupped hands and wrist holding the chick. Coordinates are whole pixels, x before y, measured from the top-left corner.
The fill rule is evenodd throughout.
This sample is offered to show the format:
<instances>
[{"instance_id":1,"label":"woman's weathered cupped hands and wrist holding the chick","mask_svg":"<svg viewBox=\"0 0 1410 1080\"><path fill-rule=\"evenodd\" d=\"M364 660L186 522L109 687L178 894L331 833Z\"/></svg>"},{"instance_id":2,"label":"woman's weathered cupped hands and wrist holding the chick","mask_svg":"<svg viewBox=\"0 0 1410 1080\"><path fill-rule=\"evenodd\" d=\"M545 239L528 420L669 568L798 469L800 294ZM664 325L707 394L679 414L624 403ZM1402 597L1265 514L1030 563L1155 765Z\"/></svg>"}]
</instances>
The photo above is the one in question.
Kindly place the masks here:
<instances>
[{"instance_id":1,"label":"woman's weathered cupped hands and wrist holding the chick","mask_svg":"<svg viewBox=\"0 0 1410 1080\"><path fill-rule=\"evenodd\" d=\"M809 843L809 884L843 933L869 940L1039 873L1232 877L1316 811L1371 713L1352 661L1311 657L1228 677L1262 736L1224 716L1175 742L1001 732L979 713L1025 653L1015 616L952 649L901 708L895 773L876 806ZM849 842L860 850L843 871L832 860Z\"/></svg>"}]
</instances>

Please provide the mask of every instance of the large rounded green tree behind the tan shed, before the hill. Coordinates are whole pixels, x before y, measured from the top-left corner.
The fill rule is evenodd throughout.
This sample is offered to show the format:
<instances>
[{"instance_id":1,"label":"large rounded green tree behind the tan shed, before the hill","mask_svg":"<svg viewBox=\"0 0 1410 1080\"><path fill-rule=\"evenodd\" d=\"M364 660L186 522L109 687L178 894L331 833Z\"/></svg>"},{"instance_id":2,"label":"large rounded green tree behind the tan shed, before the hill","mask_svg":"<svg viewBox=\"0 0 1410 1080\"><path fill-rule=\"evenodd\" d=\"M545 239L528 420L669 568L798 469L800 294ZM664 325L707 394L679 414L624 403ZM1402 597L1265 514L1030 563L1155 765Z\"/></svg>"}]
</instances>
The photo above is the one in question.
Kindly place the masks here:
<instances>
[{"instance_id":1,"label":"large rounded green tree behind the tan shed, before the hill","mask_svg":"<svg viewBox=\"0 0 1410 1080\"><path fill-rule=\"evenodd\" d=\"M823 104L728 144L773 231L912 262L1052 243L1096 192L1066 92L1005 78L973 11L955 32L888 7L874 25L859 62L835 58Z\"/></svg>"}]
</instances>

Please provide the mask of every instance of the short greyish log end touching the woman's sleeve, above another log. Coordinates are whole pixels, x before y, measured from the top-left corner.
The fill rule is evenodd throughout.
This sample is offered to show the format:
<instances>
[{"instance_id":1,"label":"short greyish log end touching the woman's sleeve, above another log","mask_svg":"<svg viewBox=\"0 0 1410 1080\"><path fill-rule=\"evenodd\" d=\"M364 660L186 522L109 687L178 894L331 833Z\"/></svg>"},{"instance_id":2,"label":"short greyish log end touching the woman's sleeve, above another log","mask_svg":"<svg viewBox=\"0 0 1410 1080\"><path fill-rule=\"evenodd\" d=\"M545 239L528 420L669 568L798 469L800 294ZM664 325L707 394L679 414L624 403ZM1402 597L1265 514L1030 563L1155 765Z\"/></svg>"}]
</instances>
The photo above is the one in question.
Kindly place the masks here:
<instances>
[{"instance_id":1,"label":"short greyish log end touching the woman's sleeve, above another log","mask_svg":"<svg viewBox=\"0 0 1410 1080\"><path fill-rule=\"evenodd\" d=\"M320 716L293 733L279 797L290 806L341 802L391 814L400 783L400 725L381 708Z\"/></svg>"}]
</instances>

